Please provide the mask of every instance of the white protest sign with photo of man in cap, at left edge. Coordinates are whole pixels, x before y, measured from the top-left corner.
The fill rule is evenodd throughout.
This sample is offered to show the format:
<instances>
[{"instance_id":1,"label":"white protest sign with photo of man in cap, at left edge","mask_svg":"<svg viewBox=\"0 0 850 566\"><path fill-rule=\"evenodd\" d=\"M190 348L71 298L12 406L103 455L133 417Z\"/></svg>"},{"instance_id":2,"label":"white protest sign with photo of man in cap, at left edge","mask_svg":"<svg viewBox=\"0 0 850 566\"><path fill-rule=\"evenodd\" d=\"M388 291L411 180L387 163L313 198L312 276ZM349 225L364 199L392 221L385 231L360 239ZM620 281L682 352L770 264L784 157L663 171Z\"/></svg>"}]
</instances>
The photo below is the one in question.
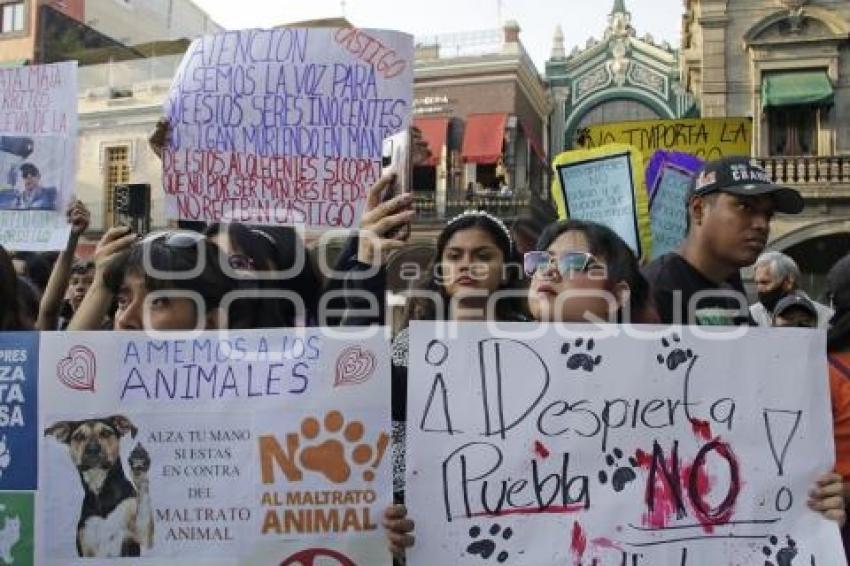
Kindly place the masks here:
<instances>
[{"instance_id":1,"label":"white protest sign with photo of man in cap, at left edge","mask_svg":"<svg viewBox=\"0 0 850 566\"><path fill-rule=\"evenodd\" d=\"M76 144L76 61L0 68L0 245L64 249Z\"/></svg>"}]
</instances>

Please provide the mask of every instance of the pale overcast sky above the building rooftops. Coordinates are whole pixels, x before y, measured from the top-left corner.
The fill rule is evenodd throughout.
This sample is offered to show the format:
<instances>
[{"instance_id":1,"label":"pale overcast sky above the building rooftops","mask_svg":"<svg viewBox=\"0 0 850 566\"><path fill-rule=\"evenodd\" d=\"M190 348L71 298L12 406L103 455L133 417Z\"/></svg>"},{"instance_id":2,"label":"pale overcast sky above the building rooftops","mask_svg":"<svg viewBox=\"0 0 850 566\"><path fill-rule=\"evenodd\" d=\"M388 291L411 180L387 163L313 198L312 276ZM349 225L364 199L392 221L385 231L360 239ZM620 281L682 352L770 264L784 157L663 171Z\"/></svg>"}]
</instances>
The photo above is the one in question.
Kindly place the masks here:
<instances>
[{"instance_id":1,"label":"pale overcast sky above the building rooftops","mask_svg":"<svg viewBox=\"0 0 850 566\"><path fill-rule=\"evenodd\" d=\"M638 36L677 47L682 0L625 0ZM567 54L601 37L614 0L195 0L227 29L272 27L302 20L339 17L357 27L386 28L431 36L500 27L519 22L520 40L543 73L552 49L555 26L561 24ZM501 6L501 8L500 8Z\"/></svg>"}]
</instances>

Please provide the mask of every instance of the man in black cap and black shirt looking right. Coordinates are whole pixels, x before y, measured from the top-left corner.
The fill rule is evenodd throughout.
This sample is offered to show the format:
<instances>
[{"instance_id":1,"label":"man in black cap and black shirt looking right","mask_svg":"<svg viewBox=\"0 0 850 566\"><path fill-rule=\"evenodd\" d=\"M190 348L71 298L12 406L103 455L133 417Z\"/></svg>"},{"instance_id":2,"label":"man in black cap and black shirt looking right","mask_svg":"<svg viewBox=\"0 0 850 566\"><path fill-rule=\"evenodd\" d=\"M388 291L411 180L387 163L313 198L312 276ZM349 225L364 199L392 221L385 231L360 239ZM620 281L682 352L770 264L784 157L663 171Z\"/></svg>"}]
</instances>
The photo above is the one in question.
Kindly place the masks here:
<instances>
[{"instance_id":1,"label":"man in black cap and black shirt looking right","mask_svg":"<svg viewBox=\"0 0 850 566\"><path fill-rule=\"evenodd\" d=\"M797 214L803 198L748 157L725 157L697 172L687 208L685 241L644 269L662 322L749 324L740 269L764 250L774 212Z\"/></svg>"}]
</instances>

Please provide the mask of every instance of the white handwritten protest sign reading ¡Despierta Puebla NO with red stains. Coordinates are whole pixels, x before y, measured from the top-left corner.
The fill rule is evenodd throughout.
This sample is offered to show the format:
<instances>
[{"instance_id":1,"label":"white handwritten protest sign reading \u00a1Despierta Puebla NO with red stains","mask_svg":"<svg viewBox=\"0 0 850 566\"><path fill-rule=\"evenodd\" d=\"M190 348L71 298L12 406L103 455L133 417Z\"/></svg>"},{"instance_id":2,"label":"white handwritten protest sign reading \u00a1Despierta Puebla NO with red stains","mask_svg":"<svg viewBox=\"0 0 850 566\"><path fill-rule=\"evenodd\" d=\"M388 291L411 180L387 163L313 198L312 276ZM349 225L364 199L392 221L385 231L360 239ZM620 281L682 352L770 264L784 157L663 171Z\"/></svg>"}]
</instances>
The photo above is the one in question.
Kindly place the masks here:
<instances>
[{"instance_id":1,"label":"white handwritten protest sign reading \u00a1Despierta Puebla NO with red stains","mask_svg":"<svg viewBox=\"0 0 850 566\"><path fill-rule=\"evenodd\" d=\"M824 333L491 326L412 326L408 564L845 564Z\"/></svg>"}]
</instances>

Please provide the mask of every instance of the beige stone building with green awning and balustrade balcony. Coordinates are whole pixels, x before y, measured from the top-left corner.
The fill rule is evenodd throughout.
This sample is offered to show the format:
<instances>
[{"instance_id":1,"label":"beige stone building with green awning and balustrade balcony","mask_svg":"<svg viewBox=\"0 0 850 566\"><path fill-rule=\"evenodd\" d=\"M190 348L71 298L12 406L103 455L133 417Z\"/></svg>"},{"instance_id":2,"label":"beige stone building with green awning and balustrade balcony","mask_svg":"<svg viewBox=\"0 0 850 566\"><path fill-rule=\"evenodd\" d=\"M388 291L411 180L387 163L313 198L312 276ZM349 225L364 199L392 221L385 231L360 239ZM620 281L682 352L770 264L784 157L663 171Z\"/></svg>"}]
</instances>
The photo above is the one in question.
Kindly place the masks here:
<instances>
[{"instance_id":1,"label":"beige stone building with green awning and balustrade balcony","mask_svg":"<svg viewBox=\"0 0 850 566\"><path fill-rule=\"evenodd\" d=\"M682 80L699 115L753 119L752 155L806 198L769 246L820 289L850 250L850 3L687 0Z\"/></svg>"}]
</instances>

